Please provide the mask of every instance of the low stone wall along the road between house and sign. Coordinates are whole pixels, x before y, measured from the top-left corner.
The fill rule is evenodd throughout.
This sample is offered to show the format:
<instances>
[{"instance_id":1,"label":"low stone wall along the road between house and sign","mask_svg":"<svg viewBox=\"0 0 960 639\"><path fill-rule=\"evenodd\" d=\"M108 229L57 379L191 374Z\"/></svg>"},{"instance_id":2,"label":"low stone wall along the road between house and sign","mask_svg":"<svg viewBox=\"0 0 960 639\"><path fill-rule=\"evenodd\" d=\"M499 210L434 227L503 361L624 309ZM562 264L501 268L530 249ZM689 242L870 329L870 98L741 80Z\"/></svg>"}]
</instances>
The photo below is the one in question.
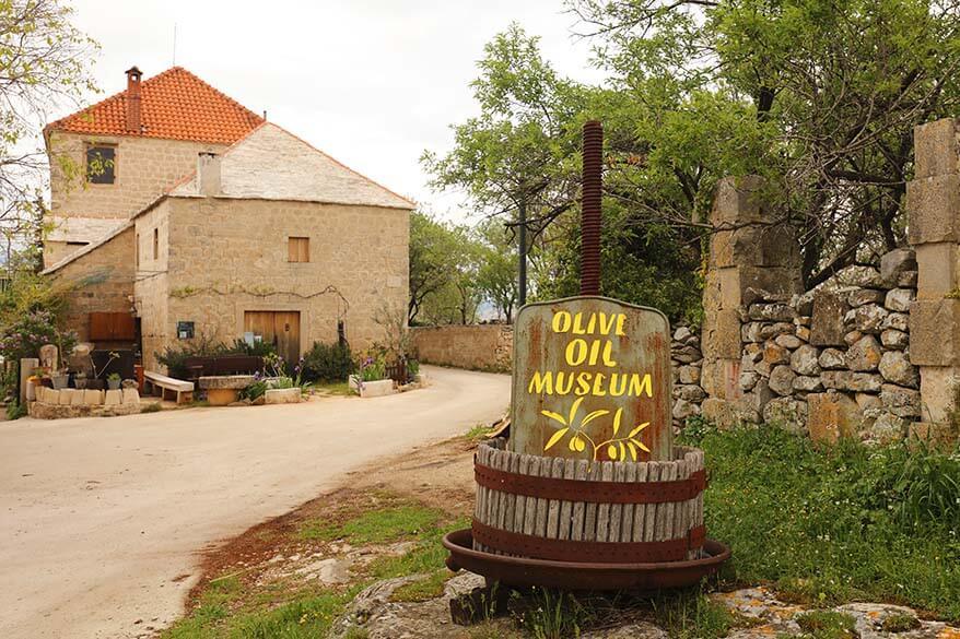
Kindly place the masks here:
<instances>
[{"instance_id":1,"label":"low stone wall along the road between house and sign","mask_svg":"<svg viewBox=\"0 0 960 639\"><path fill-rule=\"evenodd\" d=\"M513 327L419 327L411 332L417 357L424 364L495 372L512 369Z\"/></svg>"}]
</instances>

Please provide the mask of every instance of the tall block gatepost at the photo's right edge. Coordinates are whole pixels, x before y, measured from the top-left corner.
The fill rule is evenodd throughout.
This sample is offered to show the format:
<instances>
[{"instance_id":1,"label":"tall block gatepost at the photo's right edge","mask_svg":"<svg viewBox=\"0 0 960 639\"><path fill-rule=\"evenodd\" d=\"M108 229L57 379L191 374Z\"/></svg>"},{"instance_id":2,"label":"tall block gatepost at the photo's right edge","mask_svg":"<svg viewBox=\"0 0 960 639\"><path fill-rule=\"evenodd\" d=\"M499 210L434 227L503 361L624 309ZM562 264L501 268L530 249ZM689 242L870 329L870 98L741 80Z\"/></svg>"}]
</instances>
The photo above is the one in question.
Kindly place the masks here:
<instances>
[{"instance_id":1,"label":"tall block gatepost at the photo's right edge","mask_svg":"<svg viewBox=\"0 0 960 639\"><path fill-rule=\"evenodd\" d=\"M916 250L910 360L920 367L921 422L929 436L950 426L960 381L960 119L914 129L915 178L906 185L908 236Z\"/></svg>"}]
</instances>

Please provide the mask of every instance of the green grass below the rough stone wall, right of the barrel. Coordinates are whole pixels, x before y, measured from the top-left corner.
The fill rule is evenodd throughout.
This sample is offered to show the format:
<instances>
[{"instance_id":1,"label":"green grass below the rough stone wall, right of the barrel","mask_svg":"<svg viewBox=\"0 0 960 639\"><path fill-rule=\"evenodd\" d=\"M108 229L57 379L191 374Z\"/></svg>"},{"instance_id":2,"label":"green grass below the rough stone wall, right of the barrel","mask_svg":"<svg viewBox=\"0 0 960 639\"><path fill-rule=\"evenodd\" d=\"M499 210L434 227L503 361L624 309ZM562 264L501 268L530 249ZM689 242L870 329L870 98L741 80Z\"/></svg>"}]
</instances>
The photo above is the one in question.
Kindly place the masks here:
<instances>
[{"instance_id":1,"label":"green grass below the rough stone wall, right of the barrel","mask_svg":"<svg viewBox=\"0 0 960 639\"><path fill-rule=\"evenodd\" d=\"M960 454L841 442L763 426L704 429L711 536L727 581L796 603L901 603L960 620Z\"/></svg>"}]
</instances>

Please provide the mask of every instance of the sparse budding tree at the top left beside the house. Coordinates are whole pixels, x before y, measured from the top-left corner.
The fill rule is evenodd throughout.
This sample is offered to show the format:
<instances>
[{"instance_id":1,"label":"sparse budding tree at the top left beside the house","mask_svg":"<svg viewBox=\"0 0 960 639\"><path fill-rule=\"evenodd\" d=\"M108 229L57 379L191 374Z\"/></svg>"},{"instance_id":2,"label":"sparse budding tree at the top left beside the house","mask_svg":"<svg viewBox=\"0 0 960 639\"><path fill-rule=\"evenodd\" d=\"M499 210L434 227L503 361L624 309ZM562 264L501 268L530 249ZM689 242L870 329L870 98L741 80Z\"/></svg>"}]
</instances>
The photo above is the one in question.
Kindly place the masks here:
<instances>
[{"instance_id":1,"label":"sparse budding tree at the top left beside the house","mask_svg":"<svg viewBox=\"0 0 960 639\"><path fill-rule=\"evenodd\" d=\"M48 109L95 91L89 58L96 44L71 15L58 0L0 2L0 232L8 250L35 244L42 228L47 159L38 132ZM58 162L75 173L67 158Z\"/></svg>"}]
</instances>

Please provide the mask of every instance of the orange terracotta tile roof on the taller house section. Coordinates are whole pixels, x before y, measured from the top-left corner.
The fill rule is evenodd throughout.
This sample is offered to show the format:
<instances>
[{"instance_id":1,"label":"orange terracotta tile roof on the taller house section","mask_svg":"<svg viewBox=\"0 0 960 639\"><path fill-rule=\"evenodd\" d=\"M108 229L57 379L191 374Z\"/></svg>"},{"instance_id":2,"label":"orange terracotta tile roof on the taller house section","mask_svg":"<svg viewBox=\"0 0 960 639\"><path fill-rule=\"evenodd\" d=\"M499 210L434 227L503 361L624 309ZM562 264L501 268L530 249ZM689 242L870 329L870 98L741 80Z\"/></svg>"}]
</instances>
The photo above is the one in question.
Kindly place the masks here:
<instances>
[{"instance_id":1,"label":"orange terracotta tile roof on the taller house section","mask_svg":"<svg viewBox=\"0 0 960 639\"><path fill-rule=\"evenodd\" d=\"M182 67L144 80L140 92L144 138L233 144L264 121ZM138 135L127 130L126 91L47 125L50 130Z\"/></svg>"}]
</instances>

